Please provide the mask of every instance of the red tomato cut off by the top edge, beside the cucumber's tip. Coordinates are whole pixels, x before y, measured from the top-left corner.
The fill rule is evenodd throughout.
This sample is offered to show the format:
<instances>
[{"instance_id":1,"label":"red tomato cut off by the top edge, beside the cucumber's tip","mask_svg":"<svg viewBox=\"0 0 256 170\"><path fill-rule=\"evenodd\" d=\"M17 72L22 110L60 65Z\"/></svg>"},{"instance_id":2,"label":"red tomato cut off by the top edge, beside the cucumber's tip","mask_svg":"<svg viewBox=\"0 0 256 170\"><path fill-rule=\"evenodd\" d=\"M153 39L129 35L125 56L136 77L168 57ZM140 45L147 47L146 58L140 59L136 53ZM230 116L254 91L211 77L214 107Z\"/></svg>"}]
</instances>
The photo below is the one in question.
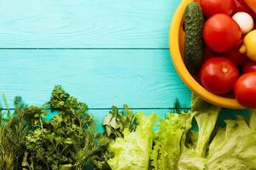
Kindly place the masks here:
<instances>
[{"instance_id":1,"label":"red tomato cut off by the top edge, beside the cucumber's tip","mask_svg":"<svg viewBox=\"0 0 256 170\"><path fill-rule=\"evenodd\" d=\"M201 8L207 18L214 14L232 14L236 5L233 0L200 0Z\"/></svg>"}]
</instances>

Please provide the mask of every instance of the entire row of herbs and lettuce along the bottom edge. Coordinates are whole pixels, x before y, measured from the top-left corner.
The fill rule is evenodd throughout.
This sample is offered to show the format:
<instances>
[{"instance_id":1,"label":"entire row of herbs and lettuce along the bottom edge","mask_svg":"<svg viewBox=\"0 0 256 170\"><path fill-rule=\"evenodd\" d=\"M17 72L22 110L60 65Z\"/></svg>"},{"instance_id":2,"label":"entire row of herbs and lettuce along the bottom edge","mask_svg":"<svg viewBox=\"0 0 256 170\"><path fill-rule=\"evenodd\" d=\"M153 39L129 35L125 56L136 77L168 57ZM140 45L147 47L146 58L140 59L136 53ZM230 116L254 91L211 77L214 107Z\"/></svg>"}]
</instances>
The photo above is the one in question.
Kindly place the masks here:
<instances>
[{"instance_id":1,"label":"entire row of herbs and lettuce along the bottom edge","mask_svg":"<svg viewBox=\"0 0 256 170\"><path fill-rule=\"evenodd\" d=\"M191 101L191 111L165 118L113 106L98 133L88 106L61 86L40 107L16 97L14 112L0 112L0 169L256 169L256 111L218 127L221 108Z\"/></svg>"}]
</instances>

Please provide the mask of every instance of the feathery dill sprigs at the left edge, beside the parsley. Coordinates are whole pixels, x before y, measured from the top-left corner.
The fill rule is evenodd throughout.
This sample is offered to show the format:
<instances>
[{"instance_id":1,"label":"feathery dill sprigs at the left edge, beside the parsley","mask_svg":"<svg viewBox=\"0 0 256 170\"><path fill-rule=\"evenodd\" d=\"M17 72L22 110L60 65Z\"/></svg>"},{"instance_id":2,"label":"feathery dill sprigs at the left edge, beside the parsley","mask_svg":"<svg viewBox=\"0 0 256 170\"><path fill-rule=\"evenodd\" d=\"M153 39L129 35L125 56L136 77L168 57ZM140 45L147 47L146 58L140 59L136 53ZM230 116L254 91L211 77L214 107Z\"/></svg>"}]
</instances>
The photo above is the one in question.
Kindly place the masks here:
<instances>
[{"instance_id":1,"label":"feathery dill sprigs at the left edge, beside the parsley","mask_svg":"<svg viewBox=\"0 0 256 170\"><path fill-rule=\"evenodd\" d=\"M4 170L20 168L25 153L26 135L30 133L32 122L30 112L42 112L42 108L28 107L20 97L15 97L15 111L9 111L9 105L3 95L7 107L7 116L0 112L0 167ZM38 120L38 119L37 119Z\"/></svg>"}]
</instances>

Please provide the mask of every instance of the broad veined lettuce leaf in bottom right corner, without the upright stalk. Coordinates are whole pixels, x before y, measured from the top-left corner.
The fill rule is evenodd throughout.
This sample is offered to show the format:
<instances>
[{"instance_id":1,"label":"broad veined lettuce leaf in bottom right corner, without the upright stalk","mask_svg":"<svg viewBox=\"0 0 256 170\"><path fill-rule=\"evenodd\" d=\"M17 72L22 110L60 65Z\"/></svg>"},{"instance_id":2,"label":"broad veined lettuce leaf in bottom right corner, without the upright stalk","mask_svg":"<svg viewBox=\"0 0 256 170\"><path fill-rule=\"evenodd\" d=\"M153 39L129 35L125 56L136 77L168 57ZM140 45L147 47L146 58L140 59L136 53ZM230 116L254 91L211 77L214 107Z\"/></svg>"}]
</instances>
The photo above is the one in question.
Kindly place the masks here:
<instances>
[{"instance_id":1,"label":"broad veined lettuce leaf in bottom right corner, without the upright stalk","mask_svg":"<svg viewBox=\"0 0 256 170\"><path fill-rule=\"evenodd\" d=\"M226 128L218 130L207 156L207 169L256 169L255 112L249 125L245 120L226 121Z\"/></svg>"}]
</instances>

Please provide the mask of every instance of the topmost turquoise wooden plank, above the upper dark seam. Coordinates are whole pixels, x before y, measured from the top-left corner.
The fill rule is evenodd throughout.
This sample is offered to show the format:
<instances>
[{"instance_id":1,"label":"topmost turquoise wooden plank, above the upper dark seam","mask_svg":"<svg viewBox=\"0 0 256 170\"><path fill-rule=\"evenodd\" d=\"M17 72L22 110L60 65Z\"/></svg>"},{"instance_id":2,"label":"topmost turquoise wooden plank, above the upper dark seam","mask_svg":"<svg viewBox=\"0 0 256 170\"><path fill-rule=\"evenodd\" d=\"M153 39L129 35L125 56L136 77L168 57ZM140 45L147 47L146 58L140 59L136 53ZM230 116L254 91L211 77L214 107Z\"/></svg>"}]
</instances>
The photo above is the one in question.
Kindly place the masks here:
<instances>
[{"instance_id":1,"label":"topmost turquoise wooden plank, above the upper dark seam","mask_svg":"<svg viewBox=\"0 0 256 170\"><path fill-rule=\"evenodd\" d=\"M180 0L1 0L0 48L168 48Z\"/></svg>"}]
</instances>

